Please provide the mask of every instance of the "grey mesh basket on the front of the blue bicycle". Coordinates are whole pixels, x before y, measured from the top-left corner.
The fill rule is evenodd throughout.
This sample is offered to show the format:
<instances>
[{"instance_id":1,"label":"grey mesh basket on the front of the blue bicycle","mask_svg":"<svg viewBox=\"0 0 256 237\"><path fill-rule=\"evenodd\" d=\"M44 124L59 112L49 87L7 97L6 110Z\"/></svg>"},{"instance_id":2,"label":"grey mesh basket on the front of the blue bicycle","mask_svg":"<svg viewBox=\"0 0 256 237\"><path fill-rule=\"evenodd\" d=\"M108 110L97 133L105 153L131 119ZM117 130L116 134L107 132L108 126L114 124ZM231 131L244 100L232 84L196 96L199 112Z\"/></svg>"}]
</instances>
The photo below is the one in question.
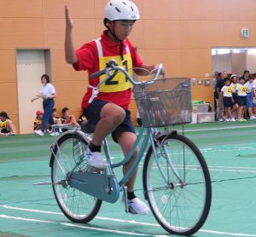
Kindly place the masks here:
<instances>
[{"instance_id":1,"label":"grey mesh basket on the front of the blue bicycle","mask_svg":"<svg viewBox=\"0 0 256 237\"><path fill-rule=\"evenodd\" d=\"M165 78L154 84L137 84L133 93L144 127L192 122L189 78Z\"/></svg>"}]
</instances>

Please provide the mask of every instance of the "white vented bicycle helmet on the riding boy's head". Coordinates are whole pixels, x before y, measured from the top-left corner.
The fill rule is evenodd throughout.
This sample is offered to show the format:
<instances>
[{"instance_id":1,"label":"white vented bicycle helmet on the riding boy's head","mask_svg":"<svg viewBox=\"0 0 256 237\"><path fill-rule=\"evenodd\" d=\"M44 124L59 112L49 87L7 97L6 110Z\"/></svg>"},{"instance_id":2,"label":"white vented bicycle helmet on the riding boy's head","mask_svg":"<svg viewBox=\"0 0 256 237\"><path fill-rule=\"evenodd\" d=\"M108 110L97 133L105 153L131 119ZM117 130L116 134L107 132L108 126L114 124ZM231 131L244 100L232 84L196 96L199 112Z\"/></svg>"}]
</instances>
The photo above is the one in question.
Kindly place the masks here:
<instances>
[{"instance_id":1,"label":"white vented bicycle helmet on the riding boy's head","mask_svg":"<svg viewBox=\"0 0 256 237\"><path fill-rule=\"evenodd\" d=\"M139 20L137 6L129 0L110 0L105 8L104 19Z\"/></svg>"}]
</instances>

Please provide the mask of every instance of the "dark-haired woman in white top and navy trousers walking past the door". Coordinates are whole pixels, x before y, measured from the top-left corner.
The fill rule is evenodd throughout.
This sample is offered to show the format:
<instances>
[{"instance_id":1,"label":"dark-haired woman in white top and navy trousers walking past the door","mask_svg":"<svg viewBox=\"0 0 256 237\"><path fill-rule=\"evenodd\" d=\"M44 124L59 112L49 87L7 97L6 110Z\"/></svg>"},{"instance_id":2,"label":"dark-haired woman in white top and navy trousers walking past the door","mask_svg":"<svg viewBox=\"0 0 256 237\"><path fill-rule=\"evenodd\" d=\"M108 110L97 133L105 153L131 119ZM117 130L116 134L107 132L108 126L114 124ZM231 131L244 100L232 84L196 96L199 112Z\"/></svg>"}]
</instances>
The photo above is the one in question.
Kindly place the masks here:
<instances>
[{"instance_id":1,"label":"dark-haired woman in white top and navy trousers walking past the door","mask_svg":"<svg viewBox=\"0 0 256 237\"><path fill-rule=\"evenodd\" d=\"M46 129L46 125L49 123L50 125L55 124L54 119L52 118L52 109L55 107L55 97L56 91L53 84L49 83L49 76L44 74L41 77L42 86L40 88L39 94L32 98L32 102L38 100L38 98L43 98L43 107L44 107L44 116L42 119L41 130L35 130L34 132L39 136L44 136L44 130ZM52 132L52 136L58 136L57 132Z\"/></svg>"}]
</instances>

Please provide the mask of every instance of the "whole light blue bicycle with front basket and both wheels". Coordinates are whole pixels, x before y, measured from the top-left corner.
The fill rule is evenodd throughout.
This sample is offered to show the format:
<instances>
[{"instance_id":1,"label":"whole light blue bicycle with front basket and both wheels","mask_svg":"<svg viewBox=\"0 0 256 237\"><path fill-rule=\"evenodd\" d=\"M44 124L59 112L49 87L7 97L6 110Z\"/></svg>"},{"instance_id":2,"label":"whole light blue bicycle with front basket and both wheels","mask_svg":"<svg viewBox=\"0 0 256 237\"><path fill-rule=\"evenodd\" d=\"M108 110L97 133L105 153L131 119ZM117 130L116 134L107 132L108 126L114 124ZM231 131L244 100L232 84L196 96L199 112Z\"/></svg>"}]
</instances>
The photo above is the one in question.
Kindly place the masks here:
<instances>
[{"instance_id":1,"label":"whole light blue bicycle with front basket and both wheels","mask_svg":"<svg viewBox=\"0 0 256 237\"><path fill-rule=\"evenodd\" d=\"M106 171L95 171L88 166L84 151L95 128L82 124L81 129L68 130L51 146L52 187L61 211L75 223L88 223L100 210L102 200L114 203L120 192L125 196L125 183L143 160L143 194L160 225L170 234L194 234L205 223L212 199L211 179L207 164L195 144L168 125L191 122L191 91L189 78L159 78L160 65L153 80L136 82L127 70L110 61L105 70L92 77L106 74L101 84L124 73L134 85L133 94L143 119L137 141L131 152L113 164L107 139L102 142ZM95 94L97 92L95 89ZM57 125L56 125L57 126ZM157 127L165 129L157 130ZM121 179L114 168L127 163L136 147L140 147L131 170ZM147 150L147 151L146 151Z\"/></svg>"}]
</instances>

